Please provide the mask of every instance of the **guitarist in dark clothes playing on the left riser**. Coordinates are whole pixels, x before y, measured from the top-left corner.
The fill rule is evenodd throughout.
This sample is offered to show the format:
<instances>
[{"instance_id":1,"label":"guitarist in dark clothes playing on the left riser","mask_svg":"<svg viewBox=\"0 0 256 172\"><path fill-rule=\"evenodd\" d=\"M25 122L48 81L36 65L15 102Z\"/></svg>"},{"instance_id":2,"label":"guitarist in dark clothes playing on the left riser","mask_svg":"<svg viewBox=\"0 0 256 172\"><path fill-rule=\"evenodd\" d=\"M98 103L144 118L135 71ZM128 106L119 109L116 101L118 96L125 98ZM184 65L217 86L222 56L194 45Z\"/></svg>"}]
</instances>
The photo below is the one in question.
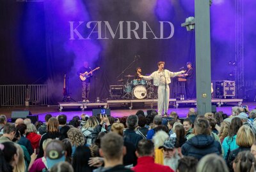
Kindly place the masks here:
<instances>
[{"instance_id":1,"label":"guitarist in dark clothes playing on the left riser","mask_svg":"<svg viewBox=\"0 0 256 172\"><path fill-rule=\"evenodd\" d=\"M86 75L84 73L89 73L90 71L92 71L91 68L88 68L88 62L84 61L84 65L79 69L79 71L77 71L77 75L82 75L82 76L86 76L86 80L82 81L82 101L86 101L89 102L89 92L90 92L90 82L91 82L91 77L92 74L90 75Z\"/></svg>"}]
</instances>

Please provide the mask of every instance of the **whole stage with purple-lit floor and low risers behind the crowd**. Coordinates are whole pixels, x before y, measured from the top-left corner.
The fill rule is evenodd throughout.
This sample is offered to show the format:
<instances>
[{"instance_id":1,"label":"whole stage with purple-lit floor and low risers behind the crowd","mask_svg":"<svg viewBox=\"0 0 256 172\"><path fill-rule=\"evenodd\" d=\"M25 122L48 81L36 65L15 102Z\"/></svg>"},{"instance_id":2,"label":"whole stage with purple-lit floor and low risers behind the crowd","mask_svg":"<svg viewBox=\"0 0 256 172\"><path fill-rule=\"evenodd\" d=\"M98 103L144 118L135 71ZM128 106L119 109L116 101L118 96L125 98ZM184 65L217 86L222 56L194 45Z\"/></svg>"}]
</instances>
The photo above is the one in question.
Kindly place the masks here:
<instances>
[{"instance_id":1,"label":"whole stage with purple-lit floor and low risers behind the crowd","mask_svg":"<svg viewBox=\"0 0 256 172\"><path fill-rule=\"evenodd\" d=\"M131 108L132 104L132 108ZM212 99L212 104L216 104L217 111L223 111L223 113L231 114L232 106L248 105L249 109L256 108L256 103L244 103L243 99ZM60 106L62 111L60 111ZM83 106L83 108L81 108ZM85 108L86 106L86 108ZM151 108L152 106L152 108ZM44 117L47 113L56 117L61 114L67 115L67 120L71 120L74 116L81 116L82 113L91 116L93 108L110 108L111 116L124 117L134 115L136 111L143 110L145 113L147 110L157 109L156 99L142 99L142 100L108 100L104 103L59 103L54 106L10 106L1 107L0 114L6 115L7 118L11 118L12 111L17 110L29 110L32 115L38 115L38 120L44 122ZM189 108L196 108L196 100L178 101L171 99L168 114L172 111L176 111L180 118L186 118Z\"/></svg>"}]
</instances>

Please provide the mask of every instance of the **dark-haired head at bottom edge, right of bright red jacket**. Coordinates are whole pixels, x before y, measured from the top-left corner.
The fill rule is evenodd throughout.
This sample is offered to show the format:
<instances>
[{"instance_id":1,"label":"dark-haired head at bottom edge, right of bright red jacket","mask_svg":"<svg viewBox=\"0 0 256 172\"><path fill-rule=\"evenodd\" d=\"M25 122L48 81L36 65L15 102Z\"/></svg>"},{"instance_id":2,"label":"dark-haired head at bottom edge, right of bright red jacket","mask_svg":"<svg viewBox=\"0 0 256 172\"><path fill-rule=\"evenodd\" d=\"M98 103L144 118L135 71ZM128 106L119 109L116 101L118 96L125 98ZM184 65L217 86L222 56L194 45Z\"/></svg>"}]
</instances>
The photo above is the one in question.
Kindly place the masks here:
<instances>
[{"instance_id":1,"label":"dark-haired head at bottom edge, right of bright red jacket","mask_svg":"<svg viewBox=\"0 0 256 172\"><path fill-rule=\"evenodd\" d=\"M194 157L182 157L179 159L177 172L195 172L198 160Z\"/></svg>"}]
</instances>

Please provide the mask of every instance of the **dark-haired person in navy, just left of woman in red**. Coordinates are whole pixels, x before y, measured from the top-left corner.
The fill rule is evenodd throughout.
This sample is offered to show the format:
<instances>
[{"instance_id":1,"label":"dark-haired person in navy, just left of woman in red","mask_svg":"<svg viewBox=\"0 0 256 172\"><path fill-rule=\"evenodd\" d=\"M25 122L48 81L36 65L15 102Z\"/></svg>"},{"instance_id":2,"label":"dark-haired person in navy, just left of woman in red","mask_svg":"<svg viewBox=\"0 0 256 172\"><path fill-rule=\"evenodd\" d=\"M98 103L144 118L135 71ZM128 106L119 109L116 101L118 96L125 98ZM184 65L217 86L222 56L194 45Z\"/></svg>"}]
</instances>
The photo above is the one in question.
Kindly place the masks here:
<instances>
[{"instance_id":1,"label":"dark-haired person in navy, just left of woman in red","mask_svg":"<svg viewBox=\"0 0 256 172\"><path fill-rule=\"evenodd\" d=\"M28 138L25 138L24 136L27 133L27 125L26 124L18 124L16 126L17 131L20 132L20 140L18 141L19 145L23 145L28 149L29 155L33 154L33 147L31 145L31 142L28 140Z\"/></svg>"}]
</instances>

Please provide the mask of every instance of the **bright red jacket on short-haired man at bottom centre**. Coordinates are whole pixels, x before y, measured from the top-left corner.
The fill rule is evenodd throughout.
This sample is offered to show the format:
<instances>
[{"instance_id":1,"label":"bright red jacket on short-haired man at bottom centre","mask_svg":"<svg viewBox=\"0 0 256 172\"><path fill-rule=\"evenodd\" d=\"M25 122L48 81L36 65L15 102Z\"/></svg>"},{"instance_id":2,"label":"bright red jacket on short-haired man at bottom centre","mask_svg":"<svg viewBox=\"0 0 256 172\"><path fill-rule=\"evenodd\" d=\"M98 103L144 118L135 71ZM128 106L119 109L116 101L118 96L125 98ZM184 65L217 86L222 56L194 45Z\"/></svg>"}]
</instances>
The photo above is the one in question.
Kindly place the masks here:
<instances>
[{"instance_id":1,"label":"bright red jacket on short-haired man at bottom centre","mask_svg":"<svg viewBox=\"0 0 256 172\"><path fill-rule=\"evenodd\" d=\"M132 168L133 171L135 172L174 172L173 169L171 169L169 166L163 166L160 164L156 164L154 162L154 157L139 157L138 158L138 163L134 168Z\"/></svg>"}]
</instances>

